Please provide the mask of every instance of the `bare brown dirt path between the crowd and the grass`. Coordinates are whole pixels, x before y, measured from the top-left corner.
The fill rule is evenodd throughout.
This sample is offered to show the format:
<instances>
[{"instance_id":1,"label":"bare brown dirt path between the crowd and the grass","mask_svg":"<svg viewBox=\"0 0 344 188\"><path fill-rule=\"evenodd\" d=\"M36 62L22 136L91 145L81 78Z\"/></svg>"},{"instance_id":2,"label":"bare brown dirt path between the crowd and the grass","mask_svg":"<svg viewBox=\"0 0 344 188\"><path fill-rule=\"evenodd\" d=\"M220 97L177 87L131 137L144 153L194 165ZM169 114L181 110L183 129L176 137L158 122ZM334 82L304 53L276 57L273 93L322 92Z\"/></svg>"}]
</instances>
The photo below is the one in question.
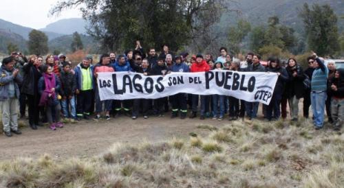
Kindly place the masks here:
<instances>
[{"instance_id":1,"label":"bare brown dirt path between the crowd and the grass","mask_svg":"<svg viewBox=\"0 0 344 188\"><path fill-rule=\"evenodd\" d=\"M78 156L89 157L105 152L112 143L139 143L147 141L166 141L173 137L189 137L189 132L204 135L206 130L197 128L200 124L219 126L229 121L206 119L170 119L168 117L149 117L132 120L119 117L110 121L80 121L67 124L65 128L52 131L47 127L39 130L22 128L22 135L5 137L0 135L0 160L18 156L39 157L50 154L54 158Z\"/></svg>"}]
</instances>

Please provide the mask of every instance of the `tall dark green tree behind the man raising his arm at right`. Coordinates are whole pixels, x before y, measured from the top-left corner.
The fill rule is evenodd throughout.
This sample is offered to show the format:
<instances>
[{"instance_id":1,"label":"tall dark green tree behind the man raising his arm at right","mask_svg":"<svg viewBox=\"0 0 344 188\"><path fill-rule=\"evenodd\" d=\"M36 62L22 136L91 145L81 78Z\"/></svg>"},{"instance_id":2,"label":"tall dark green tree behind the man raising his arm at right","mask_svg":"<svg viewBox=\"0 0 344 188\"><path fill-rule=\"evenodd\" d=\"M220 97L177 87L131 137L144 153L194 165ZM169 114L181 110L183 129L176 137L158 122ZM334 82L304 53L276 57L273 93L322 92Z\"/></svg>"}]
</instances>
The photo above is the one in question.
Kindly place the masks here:
<instances>
[{"instance_id":1,"label":"tall dark green tree behind the man raising his arm at right","mask_svg":"<svg viewBox=\"0 0 344 188\"><path fill-rule=\"evenodd\" d=\"M305 26L308 49L319 56L331 56L340 49L338 43L337 16L330 5L303 5L299 12Z\"/></svg>"}]
</instances>

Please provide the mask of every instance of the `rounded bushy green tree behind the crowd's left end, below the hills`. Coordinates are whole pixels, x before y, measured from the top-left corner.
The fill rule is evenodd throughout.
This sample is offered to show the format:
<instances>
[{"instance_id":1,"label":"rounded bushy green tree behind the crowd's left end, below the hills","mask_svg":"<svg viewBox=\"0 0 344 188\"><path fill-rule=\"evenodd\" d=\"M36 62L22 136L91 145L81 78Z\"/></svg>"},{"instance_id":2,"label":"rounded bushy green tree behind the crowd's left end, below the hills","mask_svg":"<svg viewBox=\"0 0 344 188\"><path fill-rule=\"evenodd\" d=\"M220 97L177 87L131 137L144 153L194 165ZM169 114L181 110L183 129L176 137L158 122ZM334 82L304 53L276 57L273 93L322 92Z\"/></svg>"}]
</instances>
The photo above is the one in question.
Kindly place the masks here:
<instances>
[{"instance_id":1,"label":"rounded bushy green tree behind the crowd's left end, below the hills","mask_svg":"<svg viewBox=\"0 0 344 188\"><path fill-rule=\"evenodd\" d=\"M47 36L39 30L32 30L29 34L28 48L30 54L44 55L49 50Z\"/></svg>"}]
</instances>

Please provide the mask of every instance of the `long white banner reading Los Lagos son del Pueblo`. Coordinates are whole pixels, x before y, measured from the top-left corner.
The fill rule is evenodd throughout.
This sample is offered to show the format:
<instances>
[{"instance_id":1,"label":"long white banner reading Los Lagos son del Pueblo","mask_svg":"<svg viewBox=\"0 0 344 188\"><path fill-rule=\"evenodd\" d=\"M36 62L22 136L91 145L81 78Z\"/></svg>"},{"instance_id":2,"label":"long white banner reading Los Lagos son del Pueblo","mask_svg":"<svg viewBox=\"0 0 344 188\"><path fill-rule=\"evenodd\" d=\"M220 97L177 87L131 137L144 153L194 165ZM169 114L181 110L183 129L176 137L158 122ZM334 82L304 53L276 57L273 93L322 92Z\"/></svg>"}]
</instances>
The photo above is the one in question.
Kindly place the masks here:
<instances>
[{"instance_id":1,"label":"long white banner reading Los Lagos son del Pueblo","mask_svg":"<svg viewBox=\"0 0 344 188\"><path fill-rule=\"evenodd\" d=\"M192 93L228 95L269 104L277 78L277 73L237 71L173 72L164 76L114 72L98 73L97 84L101 100L157 99L176 93Z\"/></svg>"}]
</instances>

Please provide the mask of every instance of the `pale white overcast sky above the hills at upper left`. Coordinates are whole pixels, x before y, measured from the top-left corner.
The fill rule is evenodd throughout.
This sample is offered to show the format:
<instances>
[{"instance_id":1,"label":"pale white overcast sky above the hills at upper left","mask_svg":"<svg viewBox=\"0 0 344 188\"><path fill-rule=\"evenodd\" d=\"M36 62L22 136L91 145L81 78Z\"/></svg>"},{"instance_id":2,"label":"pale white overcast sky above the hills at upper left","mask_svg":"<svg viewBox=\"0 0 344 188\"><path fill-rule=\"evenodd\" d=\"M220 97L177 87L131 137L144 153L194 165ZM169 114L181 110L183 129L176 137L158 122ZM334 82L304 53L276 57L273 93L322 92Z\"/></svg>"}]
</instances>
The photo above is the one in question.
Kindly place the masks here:
<instances>
[{"instance_id":1,"label":"pale white overcast sky above the hills at upper left","mask_svg":"<svg viewBox=\"0 0 344 188\"><path fill-rule=\"evenodd\" d=\"M59 16L49 14L58 0L1 0L0 19L25 27L41 29L60 19L80 18L78 10L66 10Z\"/></svg>"}]
</instances>

